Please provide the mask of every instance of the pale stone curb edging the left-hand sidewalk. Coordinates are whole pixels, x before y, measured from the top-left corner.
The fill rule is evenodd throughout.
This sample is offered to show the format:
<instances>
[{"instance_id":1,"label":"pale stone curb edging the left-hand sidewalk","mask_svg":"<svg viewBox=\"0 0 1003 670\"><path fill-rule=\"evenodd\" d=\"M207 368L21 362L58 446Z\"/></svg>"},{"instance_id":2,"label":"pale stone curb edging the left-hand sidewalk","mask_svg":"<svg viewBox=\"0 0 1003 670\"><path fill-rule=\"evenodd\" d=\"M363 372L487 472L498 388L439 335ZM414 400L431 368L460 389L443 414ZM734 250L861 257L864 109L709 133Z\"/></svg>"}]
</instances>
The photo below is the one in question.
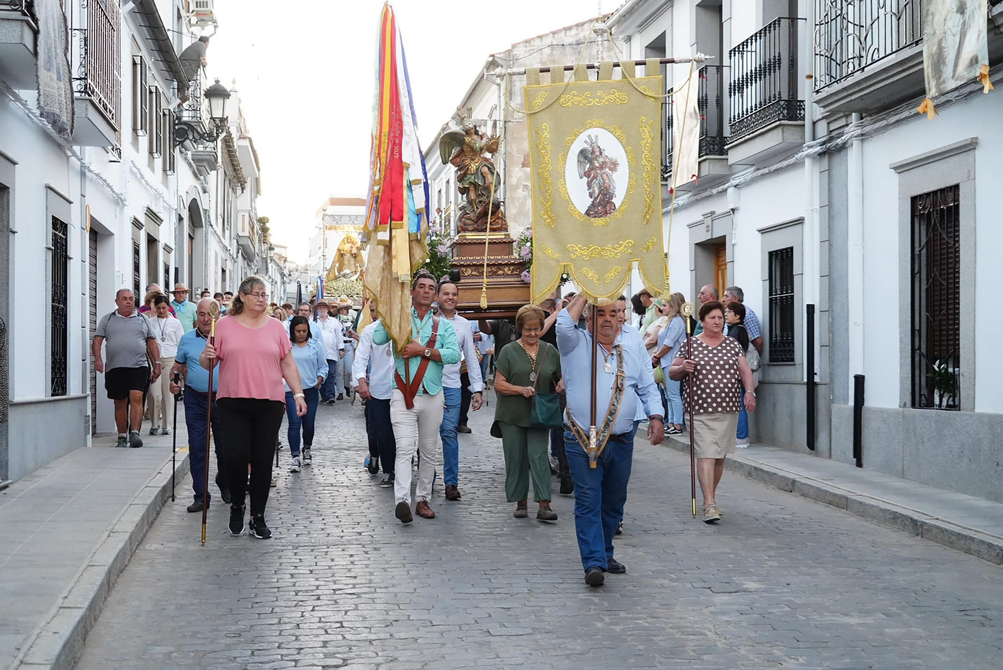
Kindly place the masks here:
<instances>
[{"instance_id":1,"label":"pale stone curb edging the left-hand sidewalk","mask_svg":"<svg viewBox=\"0 0 1003 670\"><path fill-rule=\"evenodd\" d=\"M179 452L175 470L178 483L189 469L189 454ZM11 668L72 670L111 588L170 499L171 460L168 459L105 531L90 558L29 636Z\"/></svg>"}]
</instances>

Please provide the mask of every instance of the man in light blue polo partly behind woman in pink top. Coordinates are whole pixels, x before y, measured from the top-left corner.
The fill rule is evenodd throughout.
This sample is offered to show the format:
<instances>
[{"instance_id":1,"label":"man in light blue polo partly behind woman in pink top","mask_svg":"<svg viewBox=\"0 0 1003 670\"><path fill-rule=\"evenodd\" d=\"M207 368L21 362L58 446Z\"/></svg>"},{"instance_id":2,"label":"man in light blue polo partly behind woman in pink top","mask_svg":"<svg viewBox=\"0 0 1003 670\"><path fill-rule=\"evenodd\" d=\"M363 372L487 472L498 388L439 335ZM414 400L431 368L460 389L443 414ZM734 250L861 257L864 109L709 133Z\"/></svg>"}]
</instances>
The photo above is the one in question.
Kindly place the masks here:
<instances>
[{"instance_id":1,"label":"man in light blue polo partly behind woman in pink top","mask_svg":"<svg viewBox=\"0 0 1003 670\"><path fill-rule=\"evenodd\" d=\"M176 384L175 374L181 373L185 381L185 424L189 431L189 462L192 467L192 487L195 489L195 502L188 507L189 512L202 512L204 505L209 505L212 497L208 490L203 490L206 481L206 440L209 422L209 370L199 363L209 341L213 328L213 315L210 312L214 300L203 298L199 301L196 312L196 327L182 336L175 354L175 364L171 368L171 392L178 393L181 388ZM213 372L213 441L216 444L216 485L220 487L223 501L230 502L230 489L223 468L223 426L220 424L220 413L216 409L216 391L220 389L220 365L217 362Z\"/></svg>"}]
</instances>

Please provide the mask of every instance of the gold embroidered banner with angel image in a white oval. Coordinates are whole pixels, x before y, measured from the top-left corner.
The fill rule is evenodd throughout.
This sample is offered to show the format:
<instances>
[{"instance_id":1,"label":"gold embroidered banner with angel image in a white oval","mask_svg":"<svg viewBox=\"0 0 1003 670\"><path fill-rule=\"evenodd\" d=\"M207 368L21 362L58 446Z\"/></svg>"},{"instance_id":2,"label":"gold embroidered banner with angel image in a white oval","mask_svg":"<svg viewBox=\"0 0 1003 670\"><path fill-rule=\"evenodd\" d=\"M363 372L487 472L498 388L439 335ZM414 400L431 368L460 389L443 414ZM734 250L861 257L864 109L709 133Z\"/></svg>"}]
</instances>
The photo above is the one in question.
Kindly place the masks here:
<instances>
[{"instance_id":1,"label":"gold embroidered banner with angel image in a white oval","mask_svg":"<svg viewBox=\"0 0 1003 670\"><path fill-rule=\"evenodd\" d=\"M599 80L584 65L550 84L527 70L533 183L532 300L543 302L569 273L592 301L615 298L637 264L652 295L665 291L662 246L662 77ZM657 60L654 69L658 72ZM630 76L631 80L626 76Z\"/></svg>"}]
</instances>

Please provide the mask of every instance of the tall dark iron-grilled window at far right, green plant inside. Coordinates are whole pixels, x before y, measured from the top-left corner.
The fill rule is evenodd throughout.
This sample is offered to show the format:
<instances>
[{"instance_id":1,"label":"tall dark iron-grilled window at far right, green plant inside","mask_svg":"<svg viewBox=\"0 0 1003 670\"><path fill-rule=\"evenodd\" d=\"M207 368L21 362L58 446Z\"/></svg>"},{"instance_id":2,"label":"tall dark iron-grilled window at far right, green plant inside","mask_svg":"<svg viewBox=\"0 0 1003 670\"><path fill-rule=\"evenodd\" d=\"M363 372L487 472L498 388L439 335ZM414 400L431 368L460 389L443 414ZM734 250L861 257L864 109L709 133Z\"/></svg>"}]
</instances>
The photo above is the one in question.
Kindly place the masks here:
<instances>
[{"instance_id":1,"label":"tall dark iron-grilled window at far right, green plant inside","mask_svg":"<svg viewBox=\"0 0 1003 670\"><path fill-rule=\"evenodd\" d=\"M955 185L911 203L913 407L960 408L959 196Z\"/></svg>"}]
</instances>

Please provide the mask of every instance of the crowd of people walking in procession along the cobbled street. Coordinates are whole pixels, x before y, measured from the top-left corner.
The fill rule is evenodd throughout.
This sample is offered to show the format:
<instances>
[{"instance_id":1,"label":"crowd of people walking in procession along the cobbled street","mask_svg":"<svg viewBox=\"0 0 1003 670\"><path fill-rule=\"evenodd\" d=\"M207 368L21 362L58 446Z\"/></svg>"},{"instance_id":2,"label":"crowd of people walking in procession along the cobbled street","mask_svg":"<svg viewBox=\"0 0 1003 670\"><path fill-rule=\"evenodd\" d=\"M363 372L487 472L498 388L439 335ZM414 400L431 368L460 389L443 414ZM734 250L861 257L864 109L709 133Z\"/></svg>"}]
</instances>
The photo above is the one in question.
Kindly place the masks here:
<instances>
[{"instance_id":1,"label":"crowd of people walking in procession along the cobbled street","mask_svg":"<svg viewBox=\"0 0 1003 670\"><path fill-rule=\"evenodd\" d=\"M501 439L505 491L516 504L514 517L529 516L532 482L536 518L558 520L551 508L550 448L560 491L575 493L585 581L599 586L606 573L627 570L614 558L613 538L623 525L641 424L647 422L647 437L658 444L692 423L703 520L713 523L721 519L715 494L725 457L747 443L744 413L755 409L762 334L738 287L728 287L725 302L715 287L703 287L697 318L689 323L682 294L653 298L644 290L631 300L637 325L628 318L626 296L589 305L575 293L525 306L515 319L472 322L456 312L454 281L436 281L419 271L411 290L410 340L399 349L379 320L375 301L363 306L371 323L357 332L362 313L353 314L347 301L295 308L269 303L264 281L255 276L246 278L237 294L204 292L197 305L188 301L183 284L174 295L171 301L159 287L147 287L137 310L132 292L118 291L117 309L100 320L94 337L95 367L104 372L115 402L119 446L141 445L146 396L150 434L166 434L168 398L184 389L195 493L189 511L210 505L203 481L212 430L216 483L231 506L229 530L235 535L245 528L256 538L272 535L265 510L275 485L273 455L283 417L290 471L298 472L313 462L318 406L345 396L353 403L357 396L365 405L364 467L373 475L382 471L379 485L393 487L396 519L403 524L412 523L414 515L434 519L432 485L440 461L445 499L461 497L457 434L470 432L466 415L483 405L492 362L496 402L490 433ZM224 318L210 342L214 313ZM594 398L593 338L601 355ZM161 379L164 374L169 377Z\"/></svg>"}]
</instances>

